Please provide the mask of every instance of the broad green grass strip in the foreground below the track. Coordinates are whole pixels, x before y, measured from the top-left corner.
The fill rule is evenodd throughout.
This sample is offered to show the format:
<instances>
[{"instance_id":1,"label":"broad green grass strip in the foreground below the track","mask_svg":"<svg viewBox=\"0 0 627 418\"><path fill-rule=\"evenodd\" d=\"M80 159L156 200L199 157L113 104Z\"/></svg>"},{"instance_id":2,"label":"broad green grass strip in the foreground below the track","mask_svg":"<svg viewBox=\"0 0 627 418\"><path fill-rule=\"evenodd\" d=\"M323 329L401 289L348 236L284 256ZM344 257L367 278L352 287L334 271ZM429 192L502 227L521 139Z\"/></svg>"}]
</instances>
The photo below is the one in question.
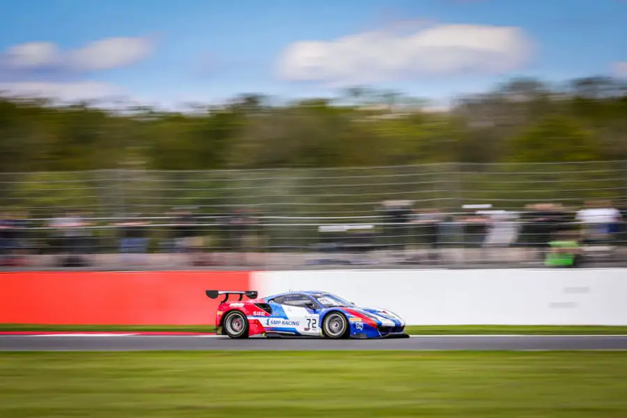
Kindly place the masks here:
<instances>
[{"instance_id":1,"label":"broad green grass strip in the foreground below the track","mask_svg":"<svg viewBox=\"0 0 627 418\"><path fill-rule=\"evenodd\" d=\"M627 353L1 353L0 417L627 417Z\"/></svg>"}]
</instances>

